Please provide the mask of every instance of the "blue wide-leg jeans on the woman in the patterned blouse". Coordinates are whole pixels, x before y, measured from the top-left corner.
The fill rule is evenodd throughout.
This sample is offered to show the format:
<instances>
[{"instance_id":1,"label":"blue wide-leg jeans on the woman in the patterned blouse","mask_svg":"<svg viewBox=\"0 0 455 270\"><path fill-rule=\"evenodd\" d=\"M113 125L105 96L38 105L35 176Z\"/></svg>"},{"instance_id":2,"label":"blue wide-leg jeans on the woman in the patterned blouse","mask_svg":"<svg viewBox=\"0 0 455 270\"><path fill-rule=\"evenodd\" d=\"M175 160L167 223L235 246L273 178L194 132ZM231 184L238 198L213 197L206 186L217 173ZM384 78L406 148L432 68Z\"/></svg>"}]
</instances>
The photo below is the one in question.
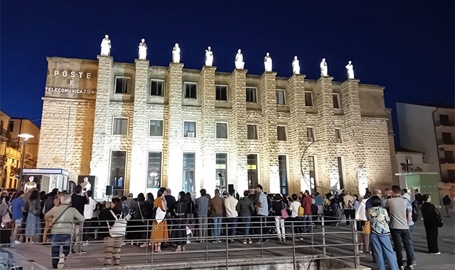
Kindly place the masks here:
<instances>
[{"instance_id":1,"label":"blue wide-leg jeans on the woman in the patterned blouse","mask_svg":"<svg viewBox=\"0 0 455 270\"><path fill-rule=\"evenodd\" d=\"M397 260L395 259L395 252L390 243L388 235L379 235L375 233L370 234L371 242L373 243L373 253L375 254L376 267L378 270L385 270L385 260L392 270L399 270Z\"/></svg>"}]
</instances>

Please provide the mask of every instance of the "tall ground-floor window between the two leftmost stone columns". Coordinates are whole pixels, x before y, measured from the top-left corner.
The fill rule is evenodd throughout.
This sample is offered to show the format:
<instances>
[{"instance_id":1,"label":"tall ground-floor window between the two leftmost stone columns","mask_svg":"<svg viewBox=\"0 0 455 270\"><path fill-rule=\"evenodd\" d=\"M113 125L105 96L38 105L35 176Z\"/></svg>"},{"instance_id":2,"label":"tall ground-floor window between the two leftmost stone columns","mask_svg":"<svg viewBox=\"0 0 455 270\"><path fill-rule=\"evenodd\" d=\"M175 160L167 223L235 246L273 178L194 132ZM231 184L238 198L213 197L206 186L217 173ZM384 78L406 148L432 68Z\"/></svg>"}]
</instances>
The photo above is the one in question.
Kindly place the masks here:
<instances>
[{"instance_id":1,"label":"tall ground-floor window between the two leftmost stone columns","mask_svg":"<svg viewBox=\"0 0 455 270\"><path fill-rule=\"evenodd\" d=\"M113 196L122 196L124 190L125 167L127 166L127 151L112 151L110 166L110 185Z\"/></svg>"}]
</instances>

